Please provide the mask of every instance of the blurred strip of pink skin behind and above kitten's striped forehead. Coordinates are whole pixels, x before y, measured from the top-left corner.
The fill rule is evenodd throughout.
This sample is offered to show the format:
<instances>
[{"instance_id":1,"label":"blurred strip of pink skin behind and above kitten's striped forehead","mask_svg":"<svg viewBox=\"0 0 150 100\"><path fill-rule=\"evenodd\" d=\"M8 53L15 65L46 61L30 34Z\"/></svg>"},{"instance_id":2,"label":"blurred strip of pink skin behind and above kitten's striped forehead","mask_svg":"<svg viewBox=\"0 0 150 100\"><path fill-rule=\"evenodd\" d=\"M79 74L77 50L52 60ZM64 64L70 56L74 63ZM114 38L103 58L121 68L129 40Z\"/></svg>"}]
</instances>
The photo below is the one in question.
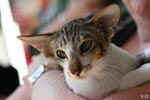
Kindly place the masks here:
<instances>
[{"instance_id":1,"label":"blurred strip of pink skin behind and above kitten's striped forehead","mask_svg":"<svg viewBox=\"0 0 150 100\"><path fill-rule=\"evenodd\" d=\"M104 0L70 0L63 14L44 28L42 33L58 31L64 24L100 11L105 6Z\"/></svg>"}]
</instances>

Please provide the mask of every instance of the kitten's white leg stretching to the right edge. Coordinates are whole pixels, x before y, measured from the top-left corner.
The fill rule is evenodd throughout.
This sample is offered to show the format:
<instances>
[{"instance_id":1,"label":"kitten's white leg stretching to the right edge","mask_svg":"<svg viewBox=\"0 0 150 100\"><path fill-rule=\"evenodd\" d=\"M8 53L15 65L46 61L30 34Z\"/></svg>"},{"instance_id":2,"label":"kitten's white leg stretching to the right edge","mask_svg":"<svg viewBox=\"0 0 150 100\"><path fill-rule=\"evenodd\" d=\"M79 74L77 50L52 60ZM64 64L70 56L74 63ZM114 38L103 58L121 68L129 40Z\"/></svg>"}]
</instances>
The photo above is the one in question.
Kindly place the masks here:
<instances>
[{"instance_id":1,"label":"kitten's white leg stretching to the right edge","mask_svg":"<svg viewBox=\"0 0 150 100\"><path fill-rule=\"evenodd\" d=\"M142 65L140 68L129 72L120 82L120 89L136 87L150 80L150 63Z\"/></svg>"}]
</instances>

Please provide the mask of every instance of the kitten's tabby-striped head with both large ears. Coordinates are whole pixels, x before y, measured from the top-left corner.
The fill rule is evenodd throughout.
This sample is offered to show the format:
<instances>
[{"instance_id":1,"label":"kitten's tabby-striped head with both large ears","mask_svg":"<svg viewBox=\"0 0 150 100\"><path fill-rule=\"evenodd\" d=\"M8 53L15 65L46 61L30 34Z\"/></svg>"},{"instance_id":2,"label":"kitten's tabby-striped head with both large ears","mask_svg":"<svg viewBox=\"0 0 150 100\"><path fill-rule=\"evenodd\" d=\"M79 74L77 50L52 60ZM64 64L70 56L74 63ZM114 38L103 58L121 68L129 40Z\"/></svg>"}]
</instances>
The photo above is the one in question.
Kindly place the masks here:
<instances>
[{"instance_id":1,"label":"kitten's tabby-striped head with both large ears","mask_svg":"<svg viewBox=\"0 0 150 100\"><path fill-rule=\"evenodd\" d=\"M69 74L83 77L105 56L119 18L119 7L111 5L94 16L65 24L58 32L19 39L37 48L46 58L55 59Z\"/></svg>"}]
</instances>

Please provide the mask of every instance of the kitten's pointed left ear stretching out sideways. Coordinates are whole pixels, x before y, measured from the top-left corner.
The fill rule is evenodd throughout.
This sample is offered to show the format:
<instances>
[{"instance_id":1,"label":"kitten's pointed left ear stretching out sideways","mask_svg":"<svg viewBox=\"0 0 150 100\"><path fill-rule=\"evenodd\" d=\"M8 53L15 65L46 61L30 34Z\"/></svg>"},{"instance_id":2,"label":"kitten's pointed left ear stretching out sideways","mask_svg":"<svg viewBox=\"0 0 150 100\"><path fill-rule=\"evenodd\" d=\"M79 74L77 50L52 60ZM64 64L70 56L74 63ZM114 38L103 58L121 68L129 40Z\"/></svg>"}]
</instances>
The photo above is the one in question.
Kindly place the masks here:
<instances>
[{"instance_id":1,"label":"kitten's pointed left ear stretching out sideways","mask_svg":"<svg viewBox=\"0 0 150 100\"><path fill-rule=\"evenodd\" d=\"M56 40L57 32L38 34L38 35L23 35L18 36L18 39L22 40L40 52L42 52L46 57L53 56L54 43Z\"/></svg>"}]
</instances>

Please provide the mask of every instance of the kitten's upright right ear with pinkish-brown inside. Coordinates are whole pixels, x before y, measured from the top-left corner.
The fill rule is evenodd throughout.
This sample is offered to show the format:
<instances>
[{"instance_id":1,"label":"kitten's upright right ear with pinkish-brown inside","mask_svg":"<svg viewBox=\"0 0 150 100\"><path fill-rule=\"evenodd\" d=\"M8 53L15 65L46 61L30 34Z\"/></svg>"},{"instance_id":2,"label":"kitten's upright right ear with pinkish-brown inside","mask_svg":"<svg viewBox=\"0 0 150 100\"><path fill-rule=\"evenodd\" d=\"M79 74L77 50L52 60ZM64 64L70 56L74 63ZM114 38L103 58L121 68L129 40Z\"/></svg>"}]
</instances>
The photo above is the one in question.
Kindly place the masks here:
<instances>
[{"instance_id":1,"label":"kitten's upright right ear with pinkish-brown inside","mask_svg":"<svg viewBox=\"0 0 150 100\"><path fill-rule=\"evenodd\" d=\"M117 26L120 19L120 8L116 4L112 4L100 12L96 13L88 23L93 23L97 27L102 26L106 31L112 31ZM110 32L109 37L112 38L114 32Z\"/></svg>"}]
</instances>

